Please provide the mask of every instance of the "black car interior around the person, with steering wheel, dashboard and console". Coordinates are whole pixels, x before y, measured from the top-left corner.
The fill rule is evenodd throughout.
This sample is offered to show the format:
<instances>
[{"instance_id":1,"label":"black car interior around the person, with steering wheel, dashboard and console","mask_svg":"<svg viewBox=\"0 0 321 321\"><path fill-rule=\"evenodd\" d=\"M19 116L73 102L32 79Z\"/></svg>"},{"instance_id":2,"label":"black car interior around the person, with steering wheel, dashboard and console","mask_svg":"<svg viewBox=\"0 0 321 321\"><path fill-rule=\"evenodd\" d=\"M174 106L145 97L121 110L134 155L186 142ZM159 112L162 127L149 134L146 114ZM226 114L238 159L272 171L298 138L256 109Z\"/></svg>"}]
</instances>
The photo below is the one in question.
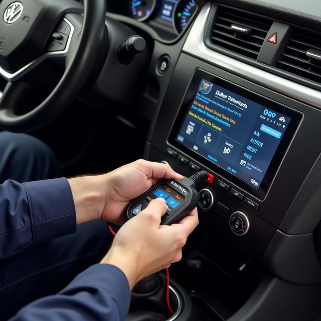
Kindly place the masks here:
<instances>
[{"instance_id":1,"label":"black car interior around the person, with steering wheel, dashboard and console","mask_svg":"<svg viewBox=\"0 0 321 321\"><path fill-rule=\"evenodd\" d=\"M209 173L174 313L160 273L128 320L321 320L320 113L320 1L0 2L2 130L66 177L140 158Z\"/></svg>"}]
</instances>

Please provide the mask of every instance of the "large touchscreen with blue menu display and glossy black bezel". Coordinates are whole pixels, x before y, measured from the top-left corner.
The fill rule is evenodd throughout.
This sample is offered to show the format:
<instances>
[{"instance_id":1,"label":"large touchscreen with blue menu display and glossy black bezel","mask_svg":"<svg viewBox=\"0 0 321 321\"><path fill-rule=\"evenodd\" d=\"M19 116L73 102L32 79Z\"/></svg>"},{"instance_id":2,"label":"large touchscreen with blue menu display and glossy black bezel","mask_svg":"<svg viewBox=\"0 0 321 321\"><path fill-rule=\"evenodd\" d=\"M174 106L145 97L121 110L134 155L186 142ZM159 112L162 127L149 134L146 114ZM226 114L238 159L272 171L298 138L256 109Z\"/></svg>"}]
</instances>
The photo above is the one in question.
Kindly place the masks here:
<instances>
[{"instance_id":1,"label":"large touchscreen with blue menu display and glossy black bezel","mask_svg":"<svg viewBox=\"0 0 321 321\"><path fill-rule=\"evenodd\" d=\"M265 185L266 191L302 115L201 71L186 98L175 142L254 189Z\"/></svg>"}]
</instances>

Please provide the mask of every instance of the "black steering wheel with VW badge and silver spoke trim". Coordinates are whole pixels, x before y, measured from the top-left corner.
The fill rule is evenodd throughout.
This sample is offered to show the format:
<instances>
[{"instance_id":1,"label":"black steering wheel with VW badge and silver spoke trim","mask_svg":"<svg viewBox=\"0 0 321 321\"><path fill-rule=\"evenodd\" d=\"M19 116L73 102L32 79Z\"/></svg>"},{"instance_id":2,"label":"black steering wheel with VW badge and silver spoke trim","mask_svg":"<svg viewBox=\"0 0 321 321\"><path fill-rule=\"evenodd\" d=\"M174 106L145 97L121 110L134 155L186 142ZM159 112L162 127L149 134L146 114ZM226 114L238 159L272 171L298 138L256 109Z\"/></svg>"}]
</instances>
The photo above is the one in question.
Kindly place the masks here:
<instances>
[{"instance_id":1,"label":"black steering wheel with VW badge and silver spoke trim","mask_svg":"<svg viewBox=\"0 0 321 321\"><path fill-rule=\"evenodd\" d=\"M0 127L29 132L57 117L88 79L105 47L106 0L84 0L83 6L74 0L13 1L0 3L0 76L8 81L0 99ZM63 76L39 106L18 113L33 89L28 75L48 60L65 66Z\"/></svg>"}]
</instances>

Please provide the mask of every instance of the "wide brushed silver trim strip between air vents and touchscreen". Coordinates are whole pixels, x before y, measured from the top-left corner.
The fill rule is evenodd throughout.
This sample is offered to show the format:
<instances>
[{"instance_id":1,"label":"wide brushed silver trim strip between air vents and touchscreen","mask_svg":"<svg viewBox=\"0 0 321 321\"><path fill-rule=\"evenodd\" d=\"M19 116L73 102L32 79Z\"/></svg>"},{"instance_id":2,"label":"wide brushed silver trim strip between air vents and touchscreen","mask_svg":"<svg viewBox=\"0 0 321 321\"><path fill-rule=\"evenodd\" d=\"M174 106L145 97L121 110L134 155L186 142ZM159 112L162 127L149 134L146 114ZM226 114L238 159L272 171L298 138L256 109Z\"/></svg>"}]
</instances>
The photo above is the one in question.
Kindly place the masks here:
<instances>
[{"instance_id":1,"label":"wide brushed silver trim strip between air vents and touchscreen","mask_svg":"<svg viewBox=\"0 0 321 321\"><path fill-rule=\"evenodd\" d=\"M247 65L244 62L207 48L204 44L204 33L210 7L211 3L207 2L196 17L184 44L183 52L198 57L242 78L272 89L273 91L277 91L321 109L320 91L292 82L291 80L271 74L254 66Z\"/></svg>"}]
</instances>

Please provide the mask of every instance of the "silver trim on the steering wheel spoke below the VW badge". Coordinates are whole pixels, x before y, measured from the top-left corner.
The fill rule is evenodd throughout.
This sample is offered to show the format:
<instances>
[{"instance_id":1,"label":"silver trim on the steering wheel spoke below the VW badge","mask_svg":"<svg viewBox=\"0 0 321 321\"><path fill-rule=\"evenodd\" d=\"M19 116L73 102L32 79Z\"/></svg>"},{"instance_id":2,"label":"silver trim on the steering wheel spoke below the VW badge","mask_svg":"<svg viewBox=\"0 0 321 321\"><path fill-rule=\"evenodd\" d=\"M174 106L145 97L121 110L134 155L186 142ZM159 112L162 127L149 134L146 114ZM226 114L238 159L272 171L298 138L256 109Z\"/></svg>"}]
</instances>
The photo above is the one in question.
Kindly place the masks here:
<instances>
[{"instance_id":1,"label":"silver trim on the steering wheel spoke below the VW badge","mask_svg":"<svg viewBox=\"0 0 321 321\"><path fill-rule=\"evenodd\" d=\"M21 69L19 69L18 71L14 72L14 73L9 73L6 70L4 70L3 68L1 68L1 66L0 66L0 75L2 77L4 77L4 79L6 79L7 81L14 82L14 81L20 79L23 75L27 74L32 68L39 65L45 59L50 58L50 57L64 57L64 56L66 56L66 54L69 50L71 38L73 36L75 28L69 20L67 20L66 18L63 18L63 20L65 22L67 22L71 28L65 50L46 52L45 54L39 56L35 60L31 61L28 65L25 65L24 67L22 67Z\"/></svg>"}]
</instances>

